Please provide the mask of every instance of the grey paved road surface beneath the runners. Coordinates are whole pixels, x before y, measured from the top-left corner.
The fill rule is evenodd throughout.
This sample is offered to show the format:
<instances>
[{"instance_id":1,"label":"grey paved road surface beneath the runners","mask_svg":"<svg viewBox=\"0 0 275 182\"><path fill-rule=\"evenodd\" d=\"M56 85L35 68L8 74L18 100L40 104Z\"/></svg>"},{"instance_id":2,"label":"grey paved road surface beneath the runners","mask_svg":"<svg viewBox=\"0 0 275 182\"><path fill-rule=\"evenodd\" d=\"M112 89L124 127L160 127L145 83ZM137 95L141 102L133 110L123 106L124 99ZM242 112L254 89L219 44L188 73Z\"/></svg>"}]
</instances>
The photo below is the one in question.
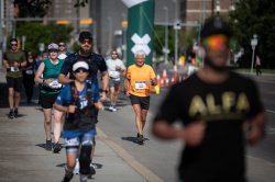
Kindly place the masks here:
<instances>
[{"instance_id":1,"label":"grey paved road surface beneath the runners","mask_svg":"<svg viewBox=\"0 0 275 182\"><path fill-rule=\"evenodd\" d=\"M162 67L160 70L162 71ZM172 76L173 67L167 67L167 70L168 76ZM178 73L184 73L180 71ZM266 79L263 80L266 81ZM270 84L263 84L261 88L266 88L266 91L274 90L274 87L268 87ZM31 105L26 104L22 91L20 110L22 117L12 121L7 118L9 112L7 90L4 73L0 69L0 168L2 169L0 170L0 181L18 181L18 179L20 181L37 181L37 179L40 181L58 181L64 172L65 152L63 149L59 155L53 155L43 149L45 134L43 114L37 105L37 87L35 87L34 102ZM162 89L160 95L154 94L151 98L148 120L144 129L146 138L144 146L135 143L134 113L128 98L123 94L119 95L118 112L100 112L94 160L97 174L89 181L176 181L176 167L184 144L158 140L152 136L150 130L152 117L166 92L167 88ZM261 94L265 93L261 92ZM273 110L274 105L268 100L268 95L266 101L270 101L271 104L267 105L268 109ZM105 105L109 106L109 103L108 101ZM270 118L273 118L273 115ZM268 123L272 124L272 122ZM264 158L265 156L261 156L261 152L257 152L260 156L250 153L246 157L250 182L274 181L275 166L270 160L274 156L272 155L274 148L271 147L273 141L274 137L271 137L266 147L258 148L260 151L270 152L267 159ZM78 178L74 178L74 181L78 181Z\"/></svg>"}]
</instances>

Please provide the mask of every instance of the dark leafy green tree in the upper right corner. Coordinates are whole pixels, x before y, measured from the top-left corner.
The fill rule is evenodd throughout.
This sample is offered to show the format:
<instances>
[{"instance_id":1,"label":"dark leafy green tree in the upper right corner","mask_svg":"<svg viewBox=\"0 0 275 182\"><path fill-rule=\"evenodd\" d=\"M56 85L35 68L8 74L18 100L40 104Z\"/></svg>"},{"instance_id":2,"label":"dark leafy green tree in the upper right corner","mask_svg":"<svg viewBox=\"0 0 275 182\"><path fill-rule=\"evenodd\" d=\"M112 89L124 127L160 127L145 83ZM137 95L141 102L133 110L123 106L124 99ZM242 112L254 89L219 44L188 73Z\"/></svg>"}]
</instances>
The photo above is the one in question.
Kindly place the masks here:
<instances>
[{"instance_id":1,"label":"dark leafy green tree in the upper right corner","mask_svg":"<svg viewBox=\"0 0 275 182\"><path fill-rule=\"evenodd\" d=\"M262 66L275 68L275 2L270 0L240 0L235 11L230 12L233 35L244 49L239 59L241 67L250 67L252 59L251 39L257 35L256 54Z\"/></svg>"}]
</instances>

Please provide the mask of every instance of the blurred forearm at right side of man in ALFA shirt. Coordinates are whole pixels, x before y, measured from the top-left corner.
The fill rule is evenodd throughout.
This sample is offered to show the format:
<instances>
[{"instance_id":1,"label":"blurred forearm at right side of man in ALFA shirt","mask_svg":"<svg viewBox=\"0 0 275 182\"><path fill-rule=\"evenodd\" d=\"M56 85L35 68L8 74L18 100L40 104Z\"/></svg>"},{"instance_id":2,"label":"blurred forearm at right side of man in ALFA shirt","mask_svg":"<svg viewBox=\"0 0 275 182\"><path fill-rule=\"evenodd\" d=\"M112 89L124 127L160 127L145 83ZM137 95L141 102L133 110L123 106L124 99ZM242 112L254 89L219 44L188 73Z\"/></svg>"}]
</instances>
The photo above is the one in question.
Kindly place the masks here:
<instances>
[{"instance_id":1,"label":"blurred forearm at right side of man in ALFA shirt","mask_svg":"<svg viewBox=\"0 0 275 182\"><path fill-rule=\"evenodd\" d=\"M252 118L251 129L246 137L246 140L250 145L255 145L264 137L265 123L265 112L261 112Z\"/></svg>"}]
</instances>

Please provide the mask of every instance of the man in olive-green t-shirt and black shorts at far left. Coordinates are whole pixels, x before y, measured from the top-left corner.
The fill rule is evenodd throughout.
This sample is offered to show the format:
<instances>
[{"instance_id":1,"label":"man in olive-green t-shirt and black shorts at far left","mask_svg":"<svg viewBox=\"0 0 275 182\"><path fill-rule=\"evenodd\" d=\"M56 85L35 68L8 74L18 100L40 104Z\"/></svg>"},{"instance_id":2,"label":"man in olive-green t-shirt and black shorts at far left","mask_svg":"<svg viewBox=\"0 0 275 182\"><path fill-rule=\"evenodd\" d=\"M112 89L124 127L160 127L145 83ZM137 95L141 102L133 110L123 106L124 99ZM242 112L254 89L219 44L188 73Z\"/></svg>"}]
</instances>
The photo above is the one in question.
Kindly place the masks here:
<instances>
[{"instance_id":1,"label":"man in olive-green t-shirt and black shorts at far left","mask_svg":"<svg viewBox=\"0 0 275 182\"><path fill-rule=\"evenodd\" d=\"M9 117L14 118L19 116L18 107L20 103L20 92L23 81L22 67L26 66L25 54L18 49L18 39L10 41L11 49L8 49L3 55L3 65L7 68L7 83L9 88ZM14 107L14 92L15 92L15 107ZM14 110L13 110L14 109Z\"/></svg>"}]
</instances>

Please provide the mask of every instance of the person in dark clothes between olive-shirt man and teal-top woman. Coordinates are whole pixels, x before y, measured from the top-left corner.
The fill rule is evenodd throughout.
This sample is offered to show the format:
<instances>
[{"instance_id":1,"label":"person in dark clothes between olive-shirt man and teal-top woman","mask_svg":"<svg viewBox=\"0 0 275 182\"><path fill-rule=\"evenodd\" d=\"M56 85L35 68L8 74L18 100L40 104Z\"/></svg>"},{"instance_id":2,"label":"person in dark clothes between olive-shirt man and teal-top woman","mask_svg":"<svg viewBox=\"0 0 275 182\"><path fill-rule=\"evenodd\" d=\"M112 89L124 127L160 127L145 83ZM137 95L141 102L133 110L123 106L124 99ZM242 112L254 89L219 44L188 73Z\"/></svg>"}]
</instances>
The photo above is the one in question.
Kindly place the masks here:
<instances>
[{"instance_id":1,"label":"person in dark clothes between olive-shirt man and teal-top woman","mask_svg":"<svg viewBox=\"0 0 275 182\"><path fill-rule=\"evenodd\" d=\"M25 94L28 103L31 104L33 96L33 87L34 87L34 66L36 65L33 59L32 52L29 50L25 53L26 66L23 69L23 84L25 88Z\"/></svg>"}]
</instances>

